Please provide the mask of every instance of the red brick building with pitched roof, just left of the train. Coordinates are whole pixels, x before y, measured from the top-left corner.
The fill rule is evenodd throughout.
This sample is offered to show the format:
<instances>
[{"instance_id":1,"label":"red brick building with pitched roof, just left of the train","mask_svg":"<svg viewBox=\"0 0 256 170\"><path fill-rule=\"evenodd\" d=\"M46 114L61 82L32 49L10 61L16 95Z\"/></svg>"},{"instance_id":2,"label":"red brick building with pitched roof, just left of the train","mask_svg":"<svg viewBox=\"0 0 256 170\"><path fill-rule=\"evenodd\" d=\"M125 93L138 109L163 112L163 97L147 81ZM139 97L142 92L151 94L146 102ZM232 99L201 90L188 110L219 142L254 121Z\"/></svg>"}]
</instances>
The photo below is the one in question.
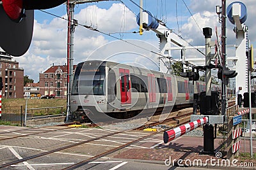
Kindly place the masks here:
<instances>
[{"instance_id":1,"label":"red brick building with pitched roof, just left of the train","mask_svg":"<svg viewBox=\"0 0 256 170\"><path fill-rule=\"evenodd\" d=\"M76 66L74 66L74 69ZM51 66L44 73L39 74L41 96L67 97L67 65Z\"/></svg>"}]
</instances>

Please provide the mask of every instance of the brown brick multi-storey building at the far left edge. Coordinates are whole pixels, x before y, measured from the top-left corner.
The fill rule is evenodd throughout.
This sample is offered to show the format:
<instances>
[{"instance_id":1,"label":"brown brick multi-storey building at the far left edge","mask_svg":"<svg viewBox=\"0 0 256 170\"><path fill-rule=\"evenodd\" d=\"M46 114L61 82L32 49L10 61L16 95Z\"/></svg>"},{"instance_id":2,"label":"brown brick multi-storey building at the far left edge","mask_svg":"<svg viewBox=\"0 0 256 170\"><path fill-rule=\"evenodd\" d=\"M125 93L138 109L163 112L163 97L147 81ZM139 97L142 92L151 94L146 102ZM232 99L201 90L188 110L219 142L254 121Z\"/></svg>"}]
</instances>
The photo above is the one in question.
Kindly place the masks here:
<instances>
[{"instance_id":1,"label":"brown brick multi-storey building at the far left edge","mask_svg":"<svg viewBox=\"0 0 256 170\"><path fill-rule=\"evenodd\" d=\"M24 69L6 52L0 52L0 76L3 80L4 99L23 98Z\"/></svg>"}]
</instances>

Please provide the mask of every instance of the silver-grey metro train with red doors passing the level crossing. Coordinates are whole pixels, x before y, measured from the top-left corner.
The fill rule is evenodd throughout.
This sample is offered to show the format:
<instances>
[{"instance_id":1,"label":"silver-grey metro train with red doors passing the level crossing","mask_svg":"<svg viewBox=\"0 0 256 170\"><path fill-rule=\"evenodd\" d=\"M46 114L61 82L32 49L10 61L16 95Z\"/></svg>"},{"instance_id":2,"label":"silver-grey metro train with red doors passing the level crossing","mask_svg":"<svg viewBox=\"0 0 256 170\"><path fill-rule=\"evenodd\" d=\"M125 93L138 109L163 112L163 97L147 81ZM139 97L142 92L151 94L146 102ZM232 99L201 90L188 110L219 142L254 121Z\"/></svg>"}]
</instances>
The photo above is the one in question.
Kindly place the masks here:
<instances>
[{"instance_id":1,"label":"silver-grey metro train with red doors passing the level crossing","mask_svg":"<svg viewBox=\"0 0 256 170\"><path fill-rule=\"evenodd\" d=\"M212 90L220 90L220 86L212 85ZM83 121L95 113L126 118L141 111L168 112L173 107L193 104L193 94L203 91L204 81L193 82L116 62L88 60L77 64L68 120Z\"/></svg>"}]
</instances>

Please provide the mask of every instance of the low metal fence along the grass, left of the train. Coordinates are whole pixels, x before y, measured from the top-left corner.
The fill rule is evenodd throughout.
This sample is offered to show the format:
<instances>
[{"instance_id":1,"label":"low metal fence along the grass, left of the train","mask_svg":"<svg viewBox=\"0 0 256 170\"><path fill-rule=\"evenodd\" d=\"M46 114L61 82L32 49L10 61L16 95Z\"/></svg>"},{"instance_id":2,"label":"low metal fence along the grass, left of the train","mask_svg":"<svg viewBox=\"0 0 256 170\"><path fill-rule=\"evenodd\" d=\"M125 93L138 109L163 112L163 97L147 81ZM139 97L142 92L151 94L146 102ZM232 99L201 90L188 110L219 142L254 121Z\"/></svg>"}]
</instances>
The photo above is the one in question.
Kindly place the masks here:
<instances>
[{"instance_id":1,"label":"low metal fence along the grass, left of the train","mask_svg":"<svg viewBox=\"0 0 256 170\"><path fill-rule=\"evenodd\" d=\"M65 112L64 106L48 108L28 108L27 118L42 117L45 115L58 115ZM23 125L25 118L25 106L6 106L2 110L1 120L8 121L11 124Z\"/></svg>"}]
</instances>

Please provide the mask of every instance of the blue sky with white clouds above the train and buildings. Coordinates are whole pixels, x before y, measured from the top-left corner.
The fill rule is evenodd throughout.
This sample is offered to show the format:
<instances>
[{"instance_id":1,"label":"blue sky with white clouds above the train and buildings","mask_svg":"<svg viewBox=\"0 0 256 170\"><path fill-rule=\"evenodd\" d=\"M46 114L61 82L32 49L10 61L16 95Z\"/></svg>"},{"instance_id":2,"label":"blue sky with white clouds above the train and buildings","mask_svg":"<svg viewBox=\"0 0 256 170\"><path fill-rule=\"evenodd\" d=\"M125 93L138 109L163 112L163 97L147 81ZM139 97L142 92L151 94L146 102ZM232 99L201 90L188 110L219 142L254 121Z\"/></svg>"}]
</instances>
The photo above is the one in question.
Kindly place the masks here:
<instances>
[{"instance_id":1,"label":"blue sky with white clouds above the train and buildings","mask_svg":"<svg viewBox=\"0 0 256 170\"><path fill-rule=\"evenodd\" d=\"M232 2L228 0L227 6ZM256 31L253 31L256 30L256 22L254 22L254 17L256 16L256 10L254 10L256 8L255 0L241 2L247 7L248 18L245 24L249 28L248 38L256 46ZM76 5L74 8L74 18L78 21L79 26L76 27L76 31L74 32L74 64L78 64L88 59L88 57L90 58L90 56L90 59L92 59L93 55L91 54L97 48L108 43L111 44L111 42L118 39L138 39L152 44L152 46L158 46L158 39L154 31L145 31L142 36L138 33L132 33L139 31L139 26L136 24L136 15L140 12L140 8L136 4L140 4L140 1L102 1ZM216 39L216 26L220 34L221 25L218 22L216 5L221 6L221 0L143 1L143 9L150 11L152 15L162 20L168 28L173 29L175 33L179 34L192 45L204 45L205 39L202 33L204 27L212 28L212 41ZM44 11L47 11L47 13ZM66 6L62 4L56 8L44 11L35 10L33 39L28 52L21 57L14 57L19 62L20 67L24 68L24 75L28 75L35 82L39 80L39 73L43 73L52 64L63 65L67 63L67 20L63 19L67 18ZM49 15L49 13L57 15L60 18ZM80 26L80 24L90 26L105 34L86 29ZM233 27L234 25L230 24L227 20L228 45L234 45L236 41L236 35L232 31ZM111 36L108 36L108 34ZM139 43L139 45L142 44ZM108 47L108 50L116 48L115 43L112 43ZM125 43L118 48L122 47L125 49ZM229 51L230 53L228 55L232 56L234 52L231 52L232 50ZM105 55L105 53L102 52L102 55ZM172 57L179 59L179 55L179 53L173 52ZM186 55L188 57L204 57L195 51L187 52ZM146 63L141 58L136 59L135 55L126 55L125 57L119 58L115 56L113 60L126 62L129 57L130 59L132 57L134 62L140 62L141 65L145 65ZM106 58L106 56L103 58Z\"/></svg>"}]
</instances>

